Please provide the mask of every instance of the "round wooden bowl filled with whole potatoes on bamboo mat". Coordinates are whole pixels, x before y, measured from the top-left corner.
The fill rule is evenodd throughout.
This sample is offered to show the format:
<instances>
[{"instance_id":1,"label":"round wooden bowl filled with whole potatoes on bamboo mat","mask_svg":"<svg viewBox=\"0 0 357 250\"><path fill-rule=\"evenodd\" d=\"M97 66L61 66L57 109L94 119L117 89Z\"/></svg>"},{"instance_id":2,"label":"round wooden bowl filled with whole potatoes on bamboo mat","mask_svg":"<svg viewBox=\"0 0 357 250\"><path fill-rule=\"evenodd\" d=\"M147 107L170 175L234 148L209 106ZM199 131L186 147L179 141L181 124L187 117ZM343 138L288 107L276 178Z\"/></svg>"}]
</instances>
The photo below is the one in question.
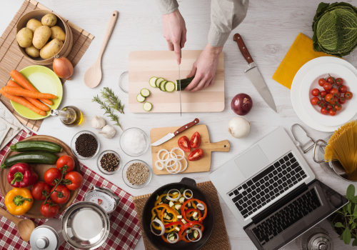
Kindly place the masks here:
<instances>
[{"instance_id":1,"label":"round wooden bowl filled with whole potatoes on bamboo mat","mask_svg":"<svg viewBox=\"0 0 357 250\"><path fill-rule=\"evenodd\" d=\"M68 56L73 46L69 25L51 11L30 11L16 25L20 51L35 64L51 65L54 56Z\"/></svg>"}]
</instances>

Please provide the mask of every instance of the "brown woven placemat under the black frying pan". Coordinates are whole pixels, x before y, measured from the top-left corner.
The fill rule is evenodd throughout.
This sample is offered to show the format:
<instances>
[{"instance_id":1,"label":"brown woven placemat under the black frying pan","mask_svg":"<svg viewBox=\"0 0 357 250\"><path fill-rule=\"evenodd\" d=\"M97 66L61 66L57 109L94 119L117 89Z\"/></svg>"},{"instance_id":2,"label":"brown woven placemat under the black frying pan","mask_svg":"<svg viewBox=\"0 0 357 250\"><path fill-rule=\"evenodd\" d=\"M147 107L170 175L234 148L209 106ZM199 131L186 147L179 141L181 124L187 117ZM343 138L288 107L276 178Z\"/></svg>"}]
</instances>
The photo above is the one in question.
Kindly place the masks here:
<instances>
[{"instance_id":1,"label":"brown woven placemat under the black frying pan","mask_svg":"<svg viewBox=\"0 0 357 250\"><path fill-rule=\"evenodd\" d=\"M228 241L228 234L226 231L226 224L224 224L223 213L221 209L221 204L219 204L218 194L216 188L213 186L211 181L201 182L197 184L198 189L201 189L203 193L208 196L208 199L211 201L211 204L214 209L214 216L215 216L215 224L214 229L211 237L208 239L206 244L202 246L202 250L212 250L212 249L219 249L219 250L228 250L229 241ZM151 194L145 194L142 196L134 197L134 205L136 212L138 213L138 218L140 222L140 227L144 245L146 250L156 250L156 247L153 246L149 239L146 238L144 234L143 225L141 225L141 215L143 214L143 209L145 206L146 200L149 198Z\"/></svg>"}]
</instances>

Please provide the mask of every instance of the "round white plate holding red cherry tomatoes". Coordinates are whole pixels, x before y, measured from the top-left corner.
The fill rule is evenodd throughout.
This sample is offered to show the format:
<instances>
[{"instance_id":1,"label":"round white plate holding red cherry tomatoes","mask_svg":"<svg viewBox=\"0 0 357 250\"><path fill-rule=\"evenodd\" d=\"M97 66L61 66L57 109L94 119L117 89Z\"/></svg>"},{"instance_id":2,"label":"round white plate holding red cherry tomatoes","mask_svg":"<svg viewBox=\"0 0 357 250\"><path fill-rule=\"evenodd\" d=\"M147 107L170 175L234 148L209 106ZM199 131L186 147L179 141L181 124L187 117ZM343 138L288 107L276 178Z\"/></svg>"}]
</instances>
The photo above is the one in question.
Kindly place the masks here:
<instances>
[{"instance_id":1,"label":"round white plate holding red cherry tomatoes","mask_svg":"<svg viewBox=\"0 0 357 250\"><path fill-rule=\"evenodd\" d=\"M338 126L357 113L357 76L341 64L320 64L303 78L300 101L303 110L318 124Z\"/></svg>"}]
</instances>

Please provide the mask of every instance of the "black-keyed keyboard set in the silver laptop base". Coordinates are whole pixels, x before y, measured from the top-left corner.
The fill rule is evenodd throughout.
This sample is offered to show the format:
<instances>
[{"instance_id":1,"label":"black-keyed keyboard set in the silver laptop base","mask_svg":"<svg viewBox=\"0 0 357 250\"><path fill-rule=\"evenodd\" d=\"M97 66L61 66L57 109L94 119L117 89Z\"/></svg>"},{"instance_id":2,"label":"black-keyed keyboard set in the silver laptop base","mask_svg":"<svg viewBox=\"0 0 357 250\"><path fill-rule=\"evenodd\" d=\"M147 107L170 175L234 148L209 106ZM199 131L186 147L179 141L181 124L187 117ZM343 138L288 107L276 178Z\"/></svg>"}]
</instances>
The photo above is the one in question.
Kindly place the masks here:
<instances>
[{"instance_id":1,"label":"black-keyed keyboard set in the silver laptop base","mask_svg":"<svg viewBox=\"0 0 357 250\"><path fill-rule=\"evenodd\" d=\"M305 171L289 153L228 195L246 218L304 178Z\"/></svg>"}]
</instances>

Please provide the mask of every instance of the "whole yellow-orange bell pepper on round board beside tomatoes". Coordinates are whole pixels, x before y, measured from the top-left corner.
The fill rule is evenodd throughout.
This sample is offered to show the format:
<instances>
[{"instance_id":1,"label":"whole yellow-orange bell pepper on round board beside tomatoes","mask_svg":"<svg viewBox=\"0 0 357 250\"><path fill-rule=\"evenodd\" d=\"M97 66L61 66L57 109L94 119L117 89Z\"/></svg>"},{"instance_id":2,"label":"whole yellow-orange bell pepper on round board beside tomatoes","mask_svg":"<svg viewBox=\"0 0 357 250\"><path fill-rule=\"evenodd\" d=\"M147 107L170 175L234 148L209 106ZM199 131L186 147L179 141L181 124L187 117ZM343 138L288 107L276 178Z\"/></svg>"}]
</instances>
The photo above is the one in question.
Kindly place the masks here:
<instances>
[{"instance_id":1,"label":"whole yellow-orange bell pepper on round board beside tomatoes","mask_svg":"<svg viewBox=\"0 0 357 250\"><path fill-rule=\"evenodd\" d=\"M5 197L6 209L10 214L23 215L31 209L34 199L31 191L26 188L15 188L9 191Z\"/></svg>"}]
</instances>

